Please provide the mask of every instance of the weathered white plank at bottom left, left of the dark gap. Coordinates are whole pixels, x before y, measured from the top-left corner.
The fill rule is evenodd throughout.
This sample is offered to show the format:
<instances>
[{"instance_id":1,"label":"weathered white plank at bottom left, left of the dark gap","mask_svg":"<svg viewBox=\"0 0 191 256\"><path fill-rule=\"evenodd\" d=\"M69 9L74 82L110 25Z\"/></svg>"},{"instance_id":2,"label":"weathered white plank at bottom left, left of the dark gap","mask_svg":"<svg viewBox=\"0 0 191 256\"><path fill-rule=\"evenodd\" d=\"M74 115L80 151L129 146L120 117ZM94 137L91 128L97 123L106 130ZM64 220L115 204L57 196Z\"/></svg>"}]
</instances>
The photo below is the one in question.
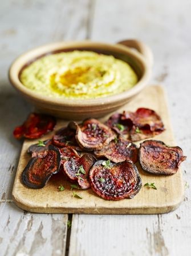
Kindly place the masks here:
<instances>
[{"instance_id":1,"label":"weathered white plank at bottom left, left of the dark gap","mask_svg":"<svg viewBox=\"0 0 191 256\"><path fill-rule=\"evenodd\" d=\"M1 255L65 255L66 214L31 214L0 203Z\"/></svg>"}]
</instances>

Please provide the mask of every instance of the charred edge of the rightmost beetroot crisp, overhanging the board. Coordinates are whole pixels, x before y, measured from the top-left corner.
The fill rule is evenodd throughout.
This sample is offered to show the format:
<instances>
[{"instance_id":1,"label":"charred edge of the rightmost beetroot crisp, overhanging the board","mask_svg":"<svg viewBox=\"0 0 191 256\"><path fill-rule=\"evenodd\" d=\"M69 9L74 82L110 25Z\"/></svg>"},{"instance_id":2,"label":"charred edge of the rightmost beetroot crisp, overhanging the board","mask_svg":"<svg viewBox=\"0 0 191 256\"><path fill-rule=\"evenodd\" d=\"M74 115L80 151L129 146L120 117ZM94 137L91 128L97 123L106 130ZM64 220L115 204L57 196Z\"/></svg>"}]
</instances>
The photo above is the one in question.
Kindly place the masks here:
<instances>
[{"instance_id":1,"label":"charred edge of the rightmost beetroot crisp, overhanging the board","mask_svg":"<svg viewBox=\"0 0 191 256\"><path fill-rule=\"evenodd\" d=\"M139 162L140 162L140 165L141 165L141 167L143 168L143 170L144 171L147 171L148 173L151 173L151 174L156 174L156 175L172 175L172 174L175 174L176 172L177 172L177 170L175 170L175 171L173 171L173 169L172 169L172 171L171 172L169 172L169 171L165 171L165 170L162 170L161 172L159 172L159 171L152 171L152 170L150 170L149 169L149 166L146 166L144 163L143 163L143 161L142 161L142 159L141 159L141 149L142 149L142 147L144 147L144 144L146 143L146 142L149 142L149 143L158 143L158 144L160 144L161 145L161 147L165 147L165 148L167 148L167 149L177 149L177 150L180 150L180 152L182 153L182 155L180 155L180 161L177 163L177 170L178 170L178 166L180 165L180 163L181 162L183 162L183 161L185 161L185 159L186 159L186 157L183 155L183 151L182 151L182 149L181 149L181 147L179 147L179 146L172 146L172 147L170 147L170 146L167 146L163 141L157 141L157 140L155 140L155 139L148 139L148 140L146 140L146 141L144 141L144 142L142 142L142 143L140 143L140 149L139 149ZM177 152L177 150L175 150L176 152ZM179 155L179 153L178 153L178 155Z\"/></svg>"}]
</instances>

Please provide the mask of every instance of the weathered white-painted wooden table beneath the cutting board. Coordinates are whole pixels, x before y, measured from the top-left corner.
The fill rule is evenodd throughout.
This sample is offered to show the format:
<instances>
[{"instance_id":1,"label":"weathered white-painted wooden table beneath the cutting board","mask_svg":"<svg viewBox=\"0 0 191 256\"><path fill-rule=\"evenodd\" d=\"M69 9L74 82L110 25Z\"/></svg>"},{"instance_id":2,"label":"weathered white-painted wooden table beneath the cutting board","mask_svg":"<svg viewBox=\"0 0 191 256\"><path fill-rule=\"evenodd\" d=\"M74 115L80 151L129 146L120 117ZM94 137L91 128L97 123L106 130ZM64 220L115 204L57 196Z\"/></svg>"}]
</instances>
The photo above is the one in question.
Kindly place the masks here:
<instances>
[{"instance_id":1,"label":"weathered white-painted wooden table beneath the cutting board","mask_svg":"<svg viewBox=\"0 0 191 256\"><path fill-rule=\"evenodd\" d=\"M191 255L191 2L189 0L7 0L0 6L0 255ZM11 200L21 142L15 125L31 111L11 87L11 61L48 42L139 38L155 58L151 83L168 91L182 164L185 198L176 211L157 215L31 214ZM70 245L69 245L70 243Z\"/></svg>"}]
</instances>

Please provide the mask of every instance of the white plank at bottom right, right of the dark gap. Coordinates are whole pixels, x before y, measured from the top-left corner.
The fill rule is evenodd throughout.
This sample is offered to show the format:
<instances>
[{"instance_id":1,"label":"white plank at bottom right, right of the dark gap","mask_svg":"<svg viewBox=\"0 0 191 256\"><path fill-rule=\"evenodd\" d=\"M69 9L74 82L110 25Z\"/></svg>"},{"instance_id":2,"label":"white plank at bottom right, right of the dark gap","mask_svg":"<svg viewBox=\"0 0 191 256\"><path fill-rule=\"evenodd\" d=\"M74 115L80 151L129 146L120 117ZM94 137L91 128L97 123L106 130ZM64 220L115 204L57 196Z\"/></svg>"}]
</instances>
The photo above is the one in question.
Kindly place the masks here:
<instances>
[{"instance_id":1,"label":"white plank at bottom right, right of the dark gap","mask_svg":"<svg viewBox=\"0 0 191 256\"><path fill-rule=\"evenodd\" d=\"M163 215L75 214L69 256L189 255L191 219L184 217L179 210Z\"/></svg>"}]
</instances>

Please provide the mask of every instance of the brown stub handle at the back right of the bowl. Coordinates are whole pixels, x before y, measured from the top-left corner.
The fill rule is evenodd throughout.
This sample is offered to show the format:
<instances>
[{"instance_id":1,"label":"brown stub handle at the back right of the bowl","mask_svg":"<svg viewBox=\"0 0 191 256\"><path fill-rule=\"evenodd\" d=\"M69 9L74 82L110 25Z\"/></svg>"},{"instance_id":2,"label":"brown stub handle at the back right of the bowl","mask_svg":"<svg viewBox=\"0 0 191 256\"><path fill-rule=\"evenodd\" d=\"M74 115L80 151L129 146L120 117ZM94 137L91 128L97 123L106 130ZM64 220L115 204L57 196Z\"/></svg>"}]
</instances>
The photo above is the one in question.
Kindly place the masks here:
<instances>
[{"instance_id":1,"label":"brown stub handle at the back right of the bowl","mask_svg":"<svg viewBox=\"0 0 191 256\"><path fill-rule=\"evenodd\" d=\"M136 49L137 51L139 51L139 53L141 53L143 55L145 61L147 61L148 65L152 67L152 65L153 65L152 51L143 42L138 41L136 39L127 39L127 40L124 40L124 41L120 41L118 43L120 45L124 45L124 46L127 46L129 48L133 48L133 49Z\"/></svg>"}]
</instances>

